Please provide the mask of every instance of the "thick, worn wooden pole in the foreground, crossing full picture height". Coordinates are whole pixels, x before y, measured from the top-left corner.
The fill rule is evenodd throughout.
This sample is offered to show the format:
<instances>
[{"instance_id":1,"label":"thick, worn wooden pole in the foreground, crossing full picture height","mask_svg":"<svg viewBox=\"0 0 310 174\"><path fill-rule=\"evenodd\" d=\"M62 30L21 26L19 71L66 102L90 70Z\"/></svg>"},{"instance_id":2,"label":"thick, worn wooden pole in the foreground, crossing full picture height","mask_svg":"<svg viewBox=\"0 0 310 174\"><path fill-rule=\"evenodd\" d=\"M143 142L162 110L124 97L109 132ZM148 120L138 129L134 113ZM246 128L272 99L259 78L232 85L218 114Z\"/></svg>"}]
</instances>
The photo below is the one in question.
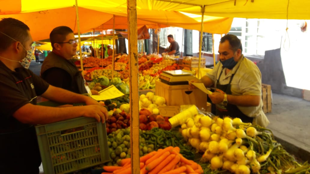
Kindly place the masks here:
<instances>
[{"instance_id":1,"label":"thick, worn wooden pole in the foreground, crossing full picture height","mask_svg":"<svg viewBox=\"0 0 310 174\"><path fill-rule=\"evenodd\" d=\"M131 173L140 173L139 158L139 72L138 72L138 33L137 33L137 2L127 0L127 24L128 24L128 50L130 70L130 148L131 148Z\"/></svg>"}]
</instances>

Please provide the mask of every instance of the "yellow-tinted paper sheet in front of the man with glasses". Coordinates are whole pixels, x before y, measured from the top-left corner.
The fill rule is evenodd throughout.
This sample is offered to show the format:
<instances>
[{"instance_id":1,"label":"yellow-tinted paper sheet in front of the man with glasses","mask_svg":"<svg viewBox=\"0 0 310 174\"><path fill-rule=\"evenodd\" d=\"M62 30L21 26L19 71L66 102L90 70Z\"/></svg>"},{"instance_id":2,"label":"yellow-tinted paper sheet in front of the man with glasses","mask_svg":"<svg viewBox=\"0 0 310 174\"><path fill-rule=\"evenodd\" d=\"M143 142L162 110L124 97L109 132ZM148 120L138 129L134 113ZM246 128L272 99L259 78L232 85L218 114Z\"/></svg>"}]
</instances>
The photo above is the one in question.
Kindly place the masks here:
<instances>
[{"instance_id":1,"label":"yellow-tinted paper sheet in front of the man with glasses","mask_svg":"<svg viewBox=\"0 0 310 174\"><path fill-rule=\"evenodd\" d=\"M114 99L124 95L121 91L119 91L114 85L111 85L105 88L102 91L99 91L99 95L91 95L91 98L100 101L100 100L108 100Z\"/></svg>"}]
</instances>

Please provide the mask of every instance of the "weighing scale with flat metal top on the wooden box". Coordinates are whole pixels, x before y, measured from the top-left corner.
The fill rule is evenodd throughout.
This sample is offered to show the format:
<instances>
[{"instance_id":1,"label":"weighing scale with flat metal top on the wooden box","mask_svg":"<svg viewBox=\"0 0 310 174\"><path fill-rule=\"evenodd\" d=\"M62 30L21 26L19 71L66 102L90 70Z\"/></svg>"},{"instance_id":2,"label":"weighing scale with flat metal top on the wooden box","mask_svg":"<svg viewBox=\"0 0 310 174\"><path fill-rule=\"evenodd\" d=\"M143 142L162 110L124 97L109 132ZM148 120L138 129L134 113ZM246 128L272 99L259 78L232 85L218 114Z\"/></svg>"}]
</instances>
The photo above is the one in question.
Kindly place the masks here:
<instances>
[{"instance_id":1,"label":"weighing scale with flat metal top on the wooden box","mask_svg":"<svg viewBox=\"0 0 310 174\"><path fill-rule=\"evenodd\" d=\"M197 79L195 72L188 70L162 71L159 79L168 85L188 85L188 81Z\"/></svg>"}]
</instances>

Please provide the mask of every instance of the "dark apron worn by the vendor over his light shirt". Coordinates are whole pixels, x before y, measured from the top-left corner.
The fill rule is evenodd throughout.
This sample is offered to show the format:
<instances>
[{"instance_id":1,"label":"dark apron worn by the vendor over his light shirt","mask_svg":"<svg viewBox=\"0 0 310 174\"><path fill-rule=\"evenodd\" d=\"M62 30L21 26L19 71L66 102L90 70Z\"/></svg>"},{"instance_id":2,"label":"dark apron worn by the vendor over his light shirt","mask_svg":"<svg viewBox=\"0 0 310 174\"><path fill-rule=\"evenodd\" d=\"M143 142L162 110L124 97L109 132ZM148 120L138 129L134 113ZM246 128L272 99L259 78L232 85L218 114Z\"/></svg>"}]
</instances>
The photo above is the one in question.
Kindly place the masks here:
<instances>
[{"instance_id":1,"label":"dark apron worn by the vendor over his light shirt","mask_svg":"<svg viewBox=\"0 0 310 174\"><path fill-rule=\"evenodd\" d=\"M221 75L223 73L224 68L222 69L221 73L219 74L219 79L221 78ZM236 73L236 72L235 72ZM221 85L219 84L219 79L216 80L216 92L221 92L221 93L226 93L227 95L231 95L231 82L232 78L234 77L235 74L232 74L230 81L226 85ZM224 116L230 116L232 118L240 118L242 122L244 123L252 123L253 122L253 117L248 117L244 113L240 111L240 109L234 105L234 104L227 104L223 105L222 103L216 104L216 115L219 117L223 118Z\"/></svg>"}]
</instances>

